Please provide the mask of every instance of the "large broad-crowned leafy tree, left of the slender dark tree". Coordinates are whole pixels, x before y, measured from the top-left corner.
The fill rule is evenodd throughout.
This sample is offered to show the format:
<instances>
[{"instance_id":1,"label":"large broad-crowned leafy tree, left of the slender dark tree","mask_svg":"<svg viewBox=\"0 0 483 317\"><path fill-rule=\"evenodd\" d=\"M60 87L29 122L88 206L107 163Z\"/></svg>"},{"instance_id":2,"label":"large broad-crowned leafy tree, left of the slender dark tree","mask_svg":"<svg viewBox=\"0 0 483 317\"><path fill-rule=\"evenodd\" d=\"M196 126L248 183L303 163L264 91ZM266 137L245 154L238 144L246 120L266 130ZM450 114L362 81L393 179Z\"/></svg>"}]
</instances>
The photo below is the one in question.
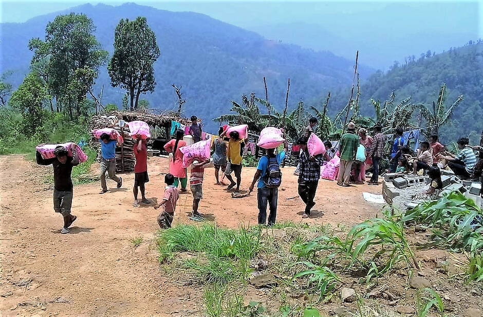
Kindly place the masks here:
<instances>
[{"instance_id":1,"label":"large broad-crowned leafy tree, left of the slender dark tree","mask_svg":"<svg viewBox=\"0 0 483 317\"><path fill-rule=\"evenodd\" d=\"M101 49L95 30L85 14L58 15L47 24L45 41L32 38L29 42L34 51L31 64L42 63L39 73L71 119L82 115L87 92L106 62L107 52Z\"/></svg>"}]
</instances>

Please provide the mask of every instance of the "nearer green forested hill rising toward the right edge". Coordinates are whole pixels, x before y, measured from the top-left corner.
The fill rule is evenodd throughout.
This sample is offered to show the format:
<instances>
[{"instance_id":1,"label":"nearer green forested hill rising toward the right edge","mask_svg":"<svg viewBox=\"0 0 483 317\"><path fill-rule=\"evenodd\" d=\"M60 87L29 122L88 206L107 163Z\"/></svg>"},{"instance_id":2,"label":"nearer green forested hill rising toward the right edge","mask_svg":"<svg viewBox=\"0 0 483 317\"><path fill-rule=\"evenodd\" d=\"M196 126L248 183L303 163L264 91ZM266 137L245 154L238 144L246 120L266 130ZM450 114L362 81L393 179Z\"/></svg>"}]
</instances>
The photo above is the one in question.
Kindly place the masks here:
<instances>
[{"instance_id":1,"label":"nearer green forested hill rising toward the right edge","mask_svg":"<svg viewBox=\"0 0 483 317\"><path fill-rule=\"evenodd\" d=\"M437 101L444 82L448 88L447 107L454 103L458 95L463 94L465 98L453 112L450 126L440 130L443 140L455 141L463 135L475 140L475 134L480 135L483 129L483 43L470 43L440 54L428 52L414 58L414 61L411 58L407 64L394 66L386 73L378 71L371 75L361 85L363 114L374 114L370 98L383 102L393 90L398 102L412 95L414 103L430 106ZM348 94L348 88L342 95L338 93L339 98L333 100L335 104L332 106L342 108L347 103Z\"/></svg>"}]
</instances>

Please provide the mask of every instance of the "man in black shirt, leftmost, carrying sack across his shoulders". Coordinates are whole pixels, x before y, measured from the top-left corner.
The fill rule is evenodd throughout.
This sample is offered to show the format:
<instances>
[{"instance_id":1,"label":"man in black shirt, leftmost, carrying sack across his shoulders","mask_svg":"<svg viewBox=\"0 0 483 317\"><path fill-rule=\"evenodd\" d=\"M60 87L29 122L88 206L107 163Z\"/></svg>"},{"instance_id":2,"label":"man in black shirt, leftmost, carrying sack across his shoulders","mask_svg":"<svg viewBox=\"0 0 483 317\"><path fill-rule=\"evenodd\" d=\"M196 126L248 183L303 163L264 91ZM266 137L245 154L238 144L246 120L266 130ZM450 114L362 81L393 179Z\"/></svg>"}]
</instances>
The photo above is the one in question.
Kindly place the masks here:
<instances>
[{"instance_id":1,"label":"man in black shirt, leftmost, carrying sack across his shoulders","mask_svg":"<svg viewBox=\"0 0 483 317\"><path fill-rule=\"evenodd\" d=\"M58 146L55 148L55 157L53 159L43 159L39 151L35 152L35 158L39 165L50 165L53 167L53 209L55 212L62 214L64 218L64 227L61 233L69 233L69 227L76 221L77 216L70 214L72 207L73 185L72 185L72 167L79 165L76 157L68 155L68 151Z\"/></svg>"}]
</instances>

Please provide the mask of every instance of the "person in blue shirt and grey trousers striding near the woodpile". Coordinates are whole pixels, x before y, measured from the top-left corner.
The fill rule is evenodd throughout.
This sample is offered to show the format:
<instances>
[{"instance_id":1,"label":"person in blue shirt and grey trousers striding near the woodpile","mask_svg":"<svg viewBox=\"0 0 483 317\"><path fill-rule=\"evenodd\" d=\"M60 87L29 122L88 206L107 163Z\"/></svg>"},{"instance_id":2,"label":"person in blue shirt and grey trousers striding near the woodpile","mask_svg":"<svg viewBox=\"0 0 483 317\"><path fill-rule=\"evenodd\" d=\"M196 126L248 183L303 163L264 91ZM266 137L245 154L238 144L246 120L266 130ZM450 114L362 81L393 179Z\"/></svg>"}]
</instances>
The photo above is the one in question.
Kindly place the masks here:
<instances>
[{"instance_id":1,"label":"person in blue shirt and grey trousers striding near the woodpile","mask_svg":"<svg viewBox=\"0 0 483 317\"><path fill-rule=\"evenodd\" d=\"M117 183L117 188L122 186L122 177L116 176L116 147L118 142L122 143L121 138L110 140L107 133L101 134L101 187L100 194L107 192L106 172L109 178Z\"/></svg>"}]
</instances>

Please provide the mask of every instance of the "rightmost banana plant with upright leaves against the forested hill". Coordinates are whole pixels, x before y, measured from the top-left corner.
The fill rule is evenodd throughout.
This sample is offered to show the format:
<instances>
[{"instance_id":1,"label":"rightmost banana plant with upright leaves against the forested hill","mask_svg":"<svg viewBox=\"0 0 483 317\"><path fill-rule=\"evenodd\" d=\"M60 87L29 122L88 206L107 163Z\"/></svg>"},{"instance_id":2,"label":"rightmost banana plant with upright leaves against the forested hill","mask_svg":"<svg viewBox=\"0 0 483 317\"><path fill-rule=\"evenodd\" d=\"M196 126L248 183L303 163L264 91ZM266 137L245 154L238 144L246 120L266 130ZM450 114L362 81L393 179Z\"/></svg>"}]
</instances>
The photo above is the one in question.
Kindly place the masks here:
<instances>
[{"instance_id":1,"label":"rightmost banana plant with upright leaves against the forested hill","mask_svg":"<svg viewBox=\"0 0 483 317\"><path fill-rule=\"evenodd\" d=\"M439 90L438 100L433 101L432 106L418 104L415 109L419 109L421 116L426 121L428 129L423 130L426 135L438 134L439 128L448 123L454 109L463 101L463 95L459 95L454 103L447 109L444 105L446 102L446 83L443 83Z\"/></svg>"}]
</instances>

